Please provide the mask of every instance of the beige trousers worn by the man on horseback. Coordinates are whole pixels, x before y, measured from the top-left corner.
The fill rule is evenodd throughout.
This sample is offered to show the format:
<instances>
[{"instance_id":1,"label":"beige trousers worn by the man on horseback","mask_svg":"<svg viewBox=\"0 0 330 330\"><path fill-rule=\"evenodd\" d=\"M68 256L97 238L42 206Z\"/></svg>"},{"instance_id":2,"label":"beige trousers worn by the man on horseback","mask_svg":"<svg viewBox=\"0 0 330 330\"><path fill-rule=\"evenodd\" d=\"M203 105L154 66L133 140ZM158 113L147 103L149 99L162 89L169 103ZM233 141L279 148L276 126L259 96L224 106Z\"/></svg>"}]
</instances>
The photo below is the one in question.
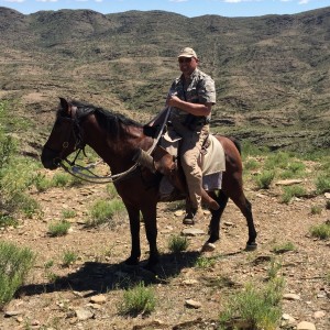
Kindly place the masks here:
<instances>
[{"instance_id":1,"label":"beige trousers worn by the man on horseback","mask_svg":"<svg viewBox=\"0 0 330 330\"><path fill-rule=\"evenodd\" d=\"M198 127L196 131L190 131L180 123L173 123L173 129L183 138L179 157L187 180L190 207L198 209L201 206L202 184L202 173L198 160L202 144L209 134L209 125Z\"/></svg>"}]
</instances>

